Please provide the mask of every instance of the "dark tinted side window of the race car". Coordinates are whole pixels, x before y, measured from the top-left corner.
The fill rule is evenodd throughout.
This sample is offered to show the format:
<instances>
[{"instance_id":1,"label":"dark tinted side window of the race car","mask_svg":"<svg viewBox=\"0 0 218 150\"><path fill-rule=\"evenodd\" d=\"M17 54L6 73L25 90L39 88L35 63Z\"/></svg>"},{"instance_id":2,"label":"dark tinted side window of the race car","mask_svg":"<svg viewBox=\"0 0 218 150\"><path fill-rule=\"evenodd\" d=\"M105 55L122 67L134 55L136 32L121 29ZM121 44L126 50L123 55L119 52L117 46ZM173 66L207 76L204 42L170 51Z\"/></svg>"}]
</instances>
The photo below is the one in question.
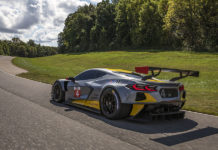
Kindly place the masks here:
<instances>
[{"instance_id":1,"label":"dark tinted side window of the race car","mask_svg":"<svg viewBox=\"0 0 218 150\"><path fill-rule=\"evenodd\" d=\"M89 80L103 77L106 73L99 70L89 70L75 77L76 80Z\"/></svg>"}]
</instances>

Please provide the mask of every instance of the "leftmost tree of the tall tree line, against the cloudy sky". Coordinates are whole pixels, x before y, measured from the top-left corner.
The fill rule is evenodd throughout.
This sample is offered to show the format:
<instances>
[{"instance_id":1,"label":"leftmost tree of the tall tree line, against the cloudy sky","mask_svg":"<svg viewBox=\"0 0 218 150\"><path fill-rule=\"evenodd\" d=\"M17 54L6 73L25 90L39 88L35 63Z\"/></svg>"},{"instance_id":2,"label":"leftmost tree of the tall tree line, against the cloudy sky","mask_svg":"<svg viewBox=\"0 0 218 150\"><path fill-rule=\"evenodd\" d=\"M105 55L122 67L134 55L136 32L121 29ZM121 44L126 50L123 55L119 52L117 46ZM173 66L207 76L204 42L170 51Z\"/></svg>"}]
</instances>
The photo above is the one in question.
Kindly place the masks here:
<instances>
[{"instance_id":1,"label":"leftmost tree of the tall tree line, against the cloudy sky","mask_svg":"<svg viewBox=\"0 0 218 150\"><path fill-rule=\"evenodd\" d=\"M95 22L94 11L93 5L85 5L67 17L64 31L58 37L61 51L76 52L89 49L90 31Z\"/></svg>"}]
</instances>

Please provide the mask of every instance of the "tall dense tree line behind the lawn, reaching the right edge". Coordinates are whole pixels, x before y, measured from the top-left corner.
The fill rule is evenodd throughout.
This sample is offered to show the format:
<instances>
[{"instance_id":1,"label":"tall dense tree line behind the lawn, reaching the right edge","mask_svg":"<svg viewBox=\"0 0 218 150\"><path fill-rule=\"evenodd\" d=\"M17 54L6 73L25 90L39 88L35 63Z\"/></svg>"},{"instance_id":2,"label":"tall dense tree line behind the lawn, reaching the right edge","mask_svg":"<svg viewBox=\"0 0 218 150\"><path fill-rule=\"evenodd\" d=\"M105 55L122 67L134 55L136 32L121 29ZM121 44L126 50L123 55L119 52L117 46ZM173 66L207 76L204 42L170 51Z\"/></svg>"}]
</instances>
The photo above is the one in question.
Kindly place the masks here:
<instances>
[{"instance_id":1,"label":"tall dense tree line behind the lawn, reaching the right edge","mask_svg":"<svg viewBox=\"0 0 218 150\"><path fill-rule=\"evenodd\" d=\"M58 35L60 52L121 48L218 51L217 0L103 0L79 7Z\"/></svg>"}]
</instances>

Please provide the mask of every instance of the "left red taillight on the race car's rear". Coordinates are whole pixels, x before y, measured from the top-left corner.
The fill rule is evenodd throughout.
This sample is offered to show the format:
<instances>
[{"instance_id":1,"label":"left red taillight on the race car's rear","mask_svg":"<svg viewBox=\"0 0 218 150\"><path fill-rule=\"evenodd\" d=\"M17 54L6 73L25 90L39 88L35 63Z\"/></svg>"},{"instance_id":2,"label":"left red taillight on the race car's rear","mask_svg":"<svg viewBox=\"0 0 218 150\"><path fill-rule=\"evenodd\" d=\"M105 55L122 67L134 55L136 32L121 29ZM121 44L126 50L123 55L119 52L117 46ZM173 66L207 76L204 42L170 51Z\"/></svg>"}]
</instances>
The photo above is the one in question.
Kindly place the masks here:
<instances>
[{"instance_id":1,"label":"left red taillight on the race car's rear","mask_svg":"<svg viewBox=\"0 0 218 150\"><path fill-rule=\"evenodd\" d=\"M134 84L134 85L127 85L127 87L136 91L150 91L150 92L157 91L156 86L153 85Z\"/></svg>"}]
</instances>

